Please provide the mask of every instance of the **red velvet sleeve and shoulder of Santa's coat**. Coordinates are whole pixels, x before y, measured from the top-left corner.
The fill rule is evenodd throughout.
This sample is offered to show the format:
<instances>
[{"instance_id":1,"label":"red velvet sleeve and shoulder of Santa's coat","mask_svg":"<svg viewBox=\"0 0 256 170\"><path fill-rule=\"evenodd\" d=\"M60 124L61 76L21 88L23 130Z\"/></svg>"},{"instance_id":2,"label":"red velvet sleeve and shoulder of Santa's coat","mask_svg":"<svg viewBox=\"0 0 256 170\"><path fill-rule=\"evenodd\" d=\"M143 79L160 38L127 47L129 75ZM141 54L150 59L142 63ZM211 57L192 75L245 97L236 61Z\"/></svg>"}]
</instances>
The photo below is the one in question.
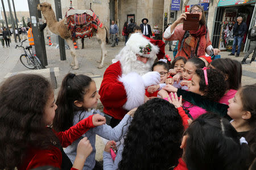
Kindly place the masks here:
<instances>
[{"instance_id":1,"label":"red velvet sleeve and shoulder of Santa's coat","mask_svg":"<svg viewBox=\"0 0 256 170\"><path fill-rule=\"evenodd\" d=\"M104 78L98 91L101 96L101 103L104 105L104 113L118 120L122 120L128 112L123 109L127 96L125 86L118 80L121 75L122 69L119 61L110 65L104 73Z\"/></svg>"}]
</instances>

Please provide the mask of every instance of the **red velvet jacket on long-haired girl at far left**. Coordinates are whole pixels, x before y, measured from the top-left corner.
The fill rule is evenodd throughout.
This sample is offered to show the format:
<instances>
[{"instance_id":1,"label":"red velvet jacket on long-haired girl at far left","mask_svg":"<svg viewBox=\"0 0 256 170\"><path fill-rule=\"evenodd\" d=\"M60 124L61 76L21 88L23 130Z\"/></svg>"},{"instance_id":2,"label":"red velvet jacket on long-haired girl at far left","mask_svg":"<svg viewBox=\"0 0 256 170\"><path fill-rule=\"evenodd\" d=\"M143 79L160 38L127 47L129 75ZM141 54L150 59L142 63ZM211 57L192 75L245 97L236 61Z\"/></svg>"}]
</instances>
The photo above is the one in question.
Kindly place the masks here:
<instances>
[{"instance_id":1,"label":"red velvet jacket on long-haired girl at far left","mask_svg":"<svg viewBox=\"0 0 256 170\"><path fill-rule=\"evenodd\" d=\"M57 138L62 147L67 147L76 141L82 134L86 133L90 128L93 128L92 116L81 120L78 124L72 126L68 130L56 132ZM52 167L61 168L62 154L59 148L55 146L49 147L48 150L31 148L27 151L26 159L18 166L19 170L28 170L37 167L51 165ZM71 168L75 169L75 168Z\"/></svg>"}]
</instances>

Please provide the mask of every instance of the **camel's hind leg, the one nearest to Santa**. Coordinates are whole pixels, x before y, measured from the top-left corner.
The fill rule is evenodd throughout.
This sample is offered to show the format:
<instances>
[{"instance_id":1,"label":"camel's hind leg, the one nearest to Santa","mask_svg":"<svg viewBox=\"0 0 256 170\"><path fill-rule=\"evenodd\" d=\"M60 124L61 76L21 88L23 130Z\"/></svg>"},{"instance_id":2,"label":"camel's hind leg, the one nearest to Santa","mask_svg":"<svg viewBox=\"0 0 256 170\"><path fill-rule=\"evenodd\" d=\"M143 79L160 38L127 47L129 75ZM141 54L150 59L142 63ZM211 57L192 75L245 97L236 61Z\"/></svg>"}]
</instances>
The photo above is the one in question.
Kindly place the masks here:
<instances>
[{"instance_id":1,"label":"camel's hind leg, the one nearest to Santa","mask_svg":"<svg viewBox=\"0 0 256 170\"><path fill-rule=\"evenodd\" d=\"M106 50L106 29L105 28L100 28L98 27L98 32L96 33L96 37L98 42L101 45L101 63L98 67L98 69L101 69L104 65L104 59L106 57L107 54L107 50Z\"/></svg>"}]
</instances>

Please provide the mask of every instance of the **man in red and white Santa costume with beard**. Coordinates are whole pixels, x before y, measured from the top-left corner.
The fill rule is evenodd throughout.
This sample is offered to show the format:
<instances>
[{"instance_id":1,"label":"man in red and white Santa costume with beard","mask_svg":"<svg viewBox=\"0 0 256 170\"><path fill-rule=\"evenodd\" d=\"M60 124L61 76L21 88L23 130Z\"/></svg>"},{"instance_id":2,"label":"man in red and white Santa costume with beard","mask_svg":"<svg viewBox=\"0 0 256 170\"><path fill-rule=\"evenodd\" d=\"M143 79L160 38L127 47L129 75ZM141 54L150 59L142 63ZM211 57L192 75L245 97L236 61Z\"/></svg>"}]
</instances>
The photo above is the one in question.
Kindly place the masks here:
<instances>
[{"instance_id":1,"label":"man in red and white Santa costume with beard","mask_svg":"<svg viewBox=\"0 0 256 170\"><path fill-rule=\"evenodd\" d=\"M100 91L104 113L114 127L125 114L144 103L145 88L159 84L160 74L151 71L156 54L164 57L164 42L133 33L104 73ZM158 45L155 45L158 44ZM160 46L160 50L159 50Z\"/></svg>"}]
</instances>

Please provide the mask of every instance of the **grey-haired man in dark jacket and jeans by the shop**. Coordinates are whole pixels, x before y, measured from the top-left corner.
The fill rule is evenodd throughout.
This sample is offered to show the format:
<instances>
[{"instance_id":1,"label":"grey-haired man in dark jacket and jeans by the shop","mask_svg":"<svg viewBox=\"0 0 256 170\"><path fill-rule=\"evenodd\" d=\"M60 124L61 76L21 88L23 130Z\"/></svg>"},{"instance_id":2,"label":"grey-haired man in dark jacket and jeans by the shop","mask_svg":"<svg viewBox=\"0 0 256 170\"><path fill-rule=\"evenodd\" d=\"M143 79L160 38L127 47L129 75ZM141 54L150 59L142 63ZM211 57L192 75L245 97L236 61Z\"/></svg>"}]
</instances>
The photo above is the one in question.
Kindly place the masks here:
<instances>
[{"instance_id":1,"label":"grey-haired man in dark jacket and jeans by the shop","mask_svg":"<svg viewBox=\"0 0 256 170\"><path fill-rule=\"evenodd\" d=\"M243 18L241 16L238 16L237 22L236 24L234 24L233 28L234 41L232 46L232 52L229 54L229 56L234 56L234 53L236 53L236 46L238 45L236 57L239 57L243 36L245 35L246 28L247 26L246 23L243 22Z\"/></svg>"}]
</instances>

